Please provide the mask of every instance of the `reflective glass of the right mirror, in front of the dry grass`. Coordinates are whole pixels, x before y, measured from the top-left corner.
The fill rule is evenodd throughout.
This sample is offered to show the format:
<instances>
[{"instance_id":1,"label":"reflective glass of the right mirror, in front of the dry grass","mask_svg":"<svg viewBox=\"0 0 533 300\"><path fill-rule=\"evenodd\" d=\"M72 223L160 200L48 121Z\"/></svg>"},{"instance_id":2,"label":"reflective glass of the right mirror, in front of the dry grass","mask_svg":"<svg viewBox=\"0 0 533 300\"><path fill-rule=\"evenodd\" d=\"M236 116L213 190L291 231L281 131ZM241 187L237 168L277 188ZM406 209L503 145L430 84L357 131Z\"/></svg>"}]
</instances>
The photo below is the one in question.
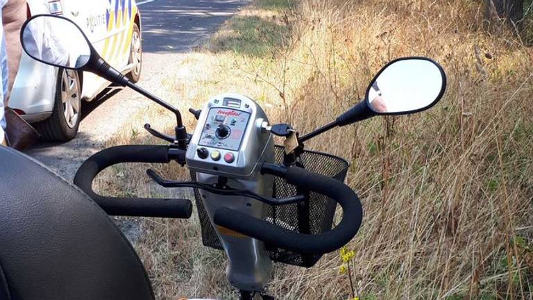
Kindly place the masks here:
<instances>
[{"instance_id":1,"label":"reflective glass of the right mirror, in front of the dry grass","mask_svg":"<svg viewBox=\"0 0 533 300\"><path fill-rule=\"evenodd\" d=\"M378 115L416 113L434 106L445 86L446 77L437 63L403 58L378 73L366 92L366 101Z\"/></svg>"}]
</instances>

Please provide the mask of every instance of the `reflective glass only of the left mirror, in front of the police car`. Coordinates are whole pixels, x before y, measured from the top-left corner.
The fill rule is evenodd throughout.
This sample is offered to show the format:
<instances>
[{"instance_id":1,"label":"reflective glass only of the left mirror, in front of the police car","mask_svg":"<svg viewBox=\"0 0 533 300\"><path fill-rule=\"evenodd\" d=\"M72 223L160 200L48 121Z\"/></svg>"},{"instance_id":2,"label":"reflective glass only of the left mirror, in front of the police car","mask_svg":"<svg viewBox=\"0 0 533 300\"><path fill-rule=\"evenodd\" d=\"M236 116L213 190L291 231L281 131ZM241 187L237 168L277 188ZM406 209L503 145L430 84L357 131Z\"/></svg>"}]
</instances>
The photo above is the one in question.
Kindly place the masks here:
<instances>
[{"instance_id":1,"label":"reflective glass only of the left mirror, in front of the police car","mask_svg":"<svg viewBox=\"0 0 533 300\"><path fill-rule=\"evenodd\" d=\"M81 69L90 60L91 47L76 24L64 17L38 15L22 27L22 48L47 65Z\"/></svg>"}]
</instances>

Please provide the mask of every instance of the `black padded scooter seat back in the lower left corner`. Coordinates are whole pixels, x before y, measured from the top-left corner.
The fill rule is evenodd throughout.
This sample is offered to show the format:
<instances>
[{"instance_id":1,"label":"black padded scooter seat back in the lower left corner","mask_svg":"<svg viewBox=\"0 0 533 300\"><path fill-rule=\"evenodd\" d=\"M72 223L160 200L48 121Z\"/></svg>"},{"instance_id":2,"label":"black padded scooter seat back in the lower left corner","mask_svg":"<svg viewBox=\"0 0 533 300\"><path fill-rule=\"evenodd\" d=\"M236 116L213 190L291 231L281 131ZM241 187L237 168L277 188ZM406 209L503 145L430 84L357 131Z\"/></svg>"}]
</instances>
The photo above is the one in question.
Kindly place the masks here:
<instances>
[{"instance_id":1,"label":"black padded scooter seat back in the lower left corner","mask_svg":"<svg viewBox=\"0 0 533 300\"><path fill-rule=\"evenodd\" d=\"M0 147L0 300L149 300L130 243L81 190Z\"/></svg>"}]
</instances>

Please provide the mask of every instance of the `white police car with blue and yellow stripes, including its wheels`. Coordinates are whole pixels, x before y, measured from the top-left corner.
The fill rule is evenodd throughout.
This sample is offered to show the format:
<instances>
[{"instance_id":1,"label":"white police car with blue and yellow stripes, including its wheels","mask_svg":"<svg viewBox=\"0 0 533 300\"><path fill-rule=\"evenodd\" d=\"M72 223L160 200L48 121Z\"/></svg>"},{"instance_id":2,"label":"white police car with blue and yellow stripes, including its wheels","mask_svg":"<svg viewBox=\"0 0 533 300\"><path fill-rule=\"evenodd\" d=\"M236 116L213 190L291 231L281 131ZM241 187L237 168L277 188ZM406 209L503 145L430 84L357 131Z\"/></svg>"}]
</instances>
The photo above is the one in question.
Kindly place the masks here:
<instances>
[{"instance_id":1,"label":"white police car with blue and yellow stripes, including its wheels","mask_svg":"<svg viewBox=\"0 0 533 300\"><path fill-rule=\"evenodd\" d=\"M139 81L141 17L135 0L28 0L31 15L62 15L83 29L96 51ZM87 72L50 67L22 53L9 106L46 140L68 141L78 133L81 101L92 101L110 83Z\"/></svg>"}]
</instances>

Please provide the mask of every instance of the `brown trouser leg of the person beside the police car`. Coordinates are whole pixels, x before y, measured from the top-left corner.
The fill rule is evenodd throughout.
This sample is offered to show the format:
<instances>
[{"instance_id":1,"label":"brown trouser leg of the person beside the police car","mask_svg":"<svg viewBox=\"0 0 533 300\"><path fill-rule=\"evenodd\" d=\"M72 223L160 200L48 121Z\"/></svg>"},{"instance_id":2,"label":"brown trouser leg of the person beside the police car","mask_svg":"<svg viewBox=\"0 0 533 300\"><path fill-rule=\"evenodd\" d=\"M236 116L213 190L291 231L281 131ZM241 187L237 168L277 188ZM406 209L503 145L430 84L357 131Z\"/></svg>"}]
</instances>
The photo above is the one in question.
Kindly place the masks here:
<instances>
[{"instance_id":1,"label":"brown trouser leg of the person beside the police car","mask_svg":"<svg viewBox=\"0 0 533 300\"><path fill-rule=\"evenodd\" d=\"M22 45L20 44L20 29L26 21L26 0L9 0L2 8L2 24L6 37L6 49L8 55L8 96L4 97L4 104L8 106L9 94L19 71Z\"/></svg>"}]
</instances>

